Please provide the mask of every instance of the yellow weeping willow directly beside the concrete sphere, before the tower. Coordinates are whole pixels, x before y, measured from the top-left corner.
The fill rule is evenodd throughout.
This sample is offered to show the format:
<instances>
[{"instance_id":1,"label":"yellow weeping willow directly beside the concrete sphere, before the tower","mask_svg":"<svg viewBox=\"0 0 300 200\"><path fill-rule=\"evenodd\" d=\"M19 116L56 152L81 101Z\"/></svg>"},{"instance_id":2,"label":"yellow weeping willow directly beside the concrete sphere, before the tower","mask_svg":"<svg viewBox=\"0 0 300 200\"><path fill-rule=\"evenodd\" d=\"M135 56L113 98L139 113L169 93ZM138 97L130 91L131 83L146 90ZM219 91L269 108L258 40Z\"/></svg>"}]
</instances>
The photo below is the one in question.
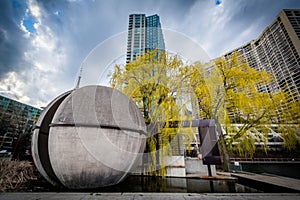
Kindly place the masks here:
<instances>
[{"instance_id":1,"label":"yellow weeping willow directly beside the concrete sphere, before the tower","mask_svg":"<svg viewBox=\"0 0 300 200\"><path fill-rule=\"evenodd\" d=\"M172 154L172 139L182 132L192 134L180 126L191 117L186 106L190 103L186 69L178 56L154 50L125 66L116 65L110 80L111 86L129 96L144 115L149 129L148 170L153 174L165 175L164 159Z\"/></svg>"}]
</instances>

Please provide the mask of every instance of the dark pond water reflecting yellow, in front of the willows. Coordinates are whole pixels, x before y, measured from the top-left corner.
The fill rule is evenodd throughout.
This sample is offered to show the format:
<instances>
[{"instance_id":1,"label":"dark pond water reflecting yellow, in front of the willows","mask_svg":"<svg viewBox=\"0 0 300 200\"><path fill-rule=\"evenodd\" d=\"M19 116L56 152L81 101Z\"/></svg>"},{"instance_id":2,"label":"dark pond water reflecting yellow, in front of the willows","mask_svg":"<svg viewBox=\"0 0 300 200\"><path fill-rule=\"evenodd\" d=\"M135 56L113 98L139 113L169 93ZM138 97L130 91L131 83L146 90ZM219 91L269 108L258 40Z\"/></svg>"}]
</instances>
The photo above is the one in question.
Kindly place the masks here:
<instances>
[{"instance_id":1,"label":"dark pond water reflecting yellow, in front of the willows","mask_svg":"<svg viewBox=\"0 0 300 200\"><path fill-rule=\"evenodd\" d=\"M97 188L95 192L253 193L262 191L241 185L234 180L129 176L118 185Z\"/></svg>"}]
</instances>

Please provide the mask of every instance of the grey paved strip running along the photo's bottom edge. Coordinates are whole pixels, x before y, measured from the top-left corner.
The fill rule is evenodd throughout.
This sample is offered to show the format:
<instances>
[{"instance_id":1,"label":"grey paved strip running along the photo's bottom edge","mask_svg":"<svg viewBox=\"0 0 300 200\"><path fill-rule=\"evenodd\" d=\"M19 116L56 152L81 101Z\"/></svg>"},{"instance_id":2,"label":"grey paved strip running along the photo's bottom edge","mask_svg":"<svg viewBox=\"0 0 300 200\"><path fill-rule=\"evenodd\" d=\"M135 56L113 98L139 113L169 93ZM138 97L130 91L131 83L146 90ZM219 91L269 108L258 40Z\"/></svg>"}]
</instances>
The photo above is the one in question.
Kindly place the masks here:
<instances>
[{"instance_id":1,"label":"grey paved strip running along the photo's bottom edge","mask_svg":"<svg viewBox=\"0 0 300 200\"><path fill-rule=\"evenodd\" d=\"M108 199L108 200L139 200L139 199L161 199L161 200L298 200L300 193L0 193L0 199L63 199L63 200L82 200L82 199Z\"/></svg>"}]
</instances>

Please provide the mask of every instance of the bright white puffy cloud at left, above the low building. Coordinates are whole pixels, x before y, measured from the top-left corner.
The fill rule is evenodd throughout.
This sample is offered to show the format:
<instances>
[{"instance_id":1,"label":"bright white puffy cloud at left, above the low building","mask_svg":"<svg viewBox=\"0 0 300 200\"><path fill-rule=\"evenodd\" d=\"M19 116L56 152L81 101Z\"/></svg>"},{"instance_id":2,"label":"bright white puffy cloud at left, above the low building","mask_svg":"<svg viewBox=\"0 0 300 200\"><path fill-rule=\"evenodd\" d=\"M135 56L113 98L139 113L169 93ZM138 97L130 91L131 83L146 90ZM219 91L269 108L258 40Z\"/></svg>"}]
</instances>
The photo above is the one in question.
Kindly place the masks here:
<instances>
[{"instance_id":1,"label":"bright white puffy cloud at left, above the low building","mask_svg":"<svg viewBox=\"0 0 300 200\"><path fill-rule=\"evenodd\" d=\"M17 69L8 68L2 76L0 87L24 103L45 106L57 93L70 89L69 79L65 77L65 49L59 42L59 35L47 25L47 12L36 1L28 1L25 17L30 15L36 21L35 33L22 26L22 37L27 38L26 48L21 48L19 66ZM19 19L20 24L24 18ZM17 46L17 44L16 44ZM20 48L20 47L19 47ZM12 57L13 53L9 57ZM9 55L7 54L7 55Z\"/></svg>"}]
</instances>

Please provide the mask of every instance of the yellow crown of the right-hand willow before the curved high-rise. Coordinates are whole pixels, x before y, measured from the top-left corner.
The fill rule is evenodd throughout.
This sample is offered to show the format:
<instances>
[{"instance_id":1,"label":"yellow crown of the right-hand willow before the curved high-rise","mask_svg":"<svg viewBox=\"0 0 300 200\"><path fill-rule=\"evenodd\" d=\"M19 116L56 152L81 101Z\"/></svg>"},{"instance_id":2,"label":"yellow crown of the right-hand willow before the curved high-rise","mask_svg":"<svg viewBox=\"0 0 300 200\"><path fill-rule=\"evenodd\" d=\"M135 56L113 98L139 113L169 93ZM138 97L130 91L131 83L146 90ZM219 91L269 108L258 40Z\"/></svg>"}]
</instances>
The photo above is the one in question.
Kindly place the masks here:
<instances>
[{"instance_id":1,"label":"yellow crown of the right-hand willow before the curved high-rise","mask_svg":"<svg viewBox=\"0 0 300 200\"><path fill-rule=\"evenodd\" d=\"M299 103L289 103L282 90L270 91L271 74L251 68L237 52L216 59L214 66L204 71L193 65L190 81L200 116L224 124L229 150L253 157L255 144L266 147L271 124L278 125L287 148L299 144Z\"/></svg>"}]
</instances>

